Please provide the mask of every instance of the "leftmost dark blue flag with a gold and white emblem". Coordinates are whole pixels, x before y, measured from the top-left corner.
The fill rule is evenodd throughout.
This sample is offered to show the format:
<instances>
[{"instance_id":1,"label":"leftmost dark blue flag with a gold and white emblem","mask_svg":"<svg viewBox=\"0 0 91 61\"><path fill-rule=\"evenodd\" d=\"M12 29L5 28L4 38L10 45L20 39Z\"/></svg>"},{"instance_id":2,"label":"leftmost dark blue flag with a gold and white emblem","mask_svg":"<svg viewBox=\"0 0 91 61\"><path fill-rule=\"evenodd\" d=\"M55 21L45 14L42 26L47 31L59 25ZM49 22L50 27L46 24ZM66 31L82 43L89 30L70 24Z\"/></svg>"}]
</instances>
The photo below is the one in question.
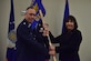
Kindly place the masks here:
<instances>
[{"instance_id":1,"label":"leftmost dark blue flag with a gold and white emblem","mask_svg":"<svg viewBox=\"0 0 91 61\"><path fill-rule=\"evenodd\" d=\"M16 32L14 32L14 10L13 0L11 0L11 10L9 18L9 29L8 29L8 49L7 49L7 60L16 61Z\"/></svg>"}]
</instances>

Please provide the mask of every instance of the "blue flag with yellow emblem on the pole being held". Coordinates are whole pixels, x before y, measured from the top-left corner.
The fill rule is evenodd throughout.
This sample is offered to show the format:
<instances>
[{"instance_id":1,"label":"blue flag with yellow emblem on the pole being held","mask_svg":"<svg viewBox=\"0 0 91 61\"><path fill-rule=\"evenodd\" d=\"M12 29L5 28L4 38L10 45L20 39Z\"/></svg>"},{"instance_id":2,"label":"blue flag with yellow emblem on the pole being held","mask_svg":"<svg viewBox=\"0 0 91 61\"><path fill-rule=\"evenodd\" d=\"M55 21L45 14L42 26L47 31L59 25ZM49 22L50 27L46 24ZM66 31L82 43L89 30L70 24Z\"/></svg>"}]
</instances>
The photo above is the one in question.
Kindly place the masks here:
<instances>
[{"instance_id":1,"label":"blue flag with yellow emblem on the pole being held","mask_svg":"<svg viewBox=\"0 0 91 61\"><path fill-rule=\"evenodd\" d=\"M32 26L31 28L34 29L37 27L37 24L41 24L40 22L42 21L40 18L39 10L42 11L42 14L44 17L46 16L46 9L42 4L42 0L32 0L32 3L30 7L33 7L37 11L37 19L36 19L37 21L33 21L33 23L31 24Z\"/></svg>"}]
</instances>

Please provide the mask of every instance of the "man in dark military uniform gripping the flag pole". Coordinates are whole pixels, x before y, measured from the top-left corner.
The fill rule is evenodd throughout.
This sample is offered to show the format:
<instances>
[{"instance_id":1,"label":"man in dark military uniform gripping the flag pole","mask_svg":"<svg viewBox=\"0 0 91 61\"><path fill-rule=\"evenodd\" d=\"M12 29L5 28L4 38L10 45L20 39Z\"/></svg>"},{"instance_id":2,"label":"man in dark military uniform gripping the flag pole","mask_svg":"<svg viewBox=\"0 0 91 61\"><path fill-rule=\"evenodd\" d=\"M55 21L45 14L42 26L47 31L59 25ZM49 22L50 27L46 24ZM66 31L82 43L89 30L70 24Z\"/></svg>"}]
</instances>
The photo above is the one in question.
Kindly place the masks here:
<instances>
[{"instance_id":1,"label":"man in dark military uniform gripping the flag pole","mask_svg":"<svg viewBox=\"0 0 91 61\"><path fill-rule=\"evenodd\" d=\"M49 60L49 41L43 32L32 29L36 10L29 7L24 13L23 21L17 29L17 61L47 61Z\"/></svg>"}]
</instances>

